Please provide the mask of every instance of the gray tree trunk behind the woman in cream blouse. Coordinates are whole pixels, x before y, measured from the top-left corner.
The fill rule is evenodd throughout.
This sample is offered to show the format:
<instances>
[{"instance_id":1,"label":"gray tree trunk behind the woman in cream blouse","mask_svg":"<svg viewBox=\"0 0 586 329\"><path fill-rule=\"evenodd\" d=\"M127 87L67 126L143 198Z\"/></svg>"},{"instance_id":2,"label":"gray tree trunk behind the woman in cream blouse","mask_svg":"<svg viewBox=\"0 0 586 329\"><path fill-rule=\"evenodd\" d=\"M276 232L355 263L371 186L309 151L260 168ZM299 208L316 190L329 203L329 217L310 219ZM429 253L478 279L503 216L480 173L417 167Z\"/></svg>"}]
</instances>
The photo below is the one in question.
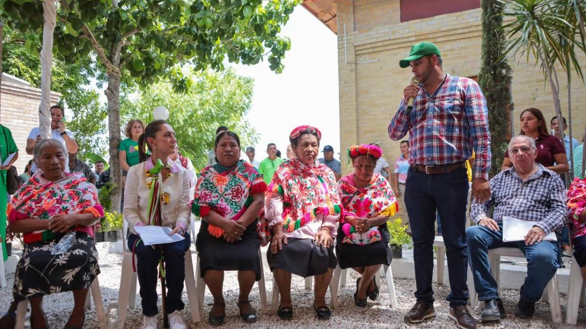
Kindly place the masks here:
<instances>
[{"instance_id":1,"label":"gray tree trunk behind the woman in cream blouse","mask_svg":"<svg viewBox=\"0 0 586 329\"><path fill-rule=\"evenodd\" d=\"M108 88L105 92L108 99L108 131L110 132L110 181L115 188L110 194L110 211L121 212L121 170L118 162L118 146L120 145L120 76L108 73Z\"/></svg>"}]
</instances>

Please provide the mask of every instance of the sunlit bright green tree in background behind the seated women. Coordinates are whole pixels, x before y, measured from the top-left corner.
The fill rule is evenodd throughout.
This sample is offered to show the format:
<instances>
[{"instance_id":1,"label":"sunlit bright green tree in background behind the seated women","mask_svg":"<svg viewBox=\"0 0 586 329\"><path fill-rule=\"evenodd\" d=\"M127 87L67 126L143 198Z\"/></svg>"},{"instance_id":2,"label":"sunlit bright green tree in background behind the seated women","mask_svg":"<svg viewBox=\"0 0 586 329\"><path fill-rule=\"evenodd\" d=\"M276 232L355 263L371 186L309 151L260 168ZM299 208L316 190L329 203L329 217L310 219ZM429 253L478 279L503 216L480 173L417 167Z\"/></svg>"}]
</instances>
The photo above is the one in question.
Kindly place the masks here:
<instances>
[{"instance_id":1,"label":"sunlit bright green tree in background behind the seated women","mask_svg":"<svg viewBox=\"0 0 586 329\"><path fill-rule=\"evenodd\" d=\"M154 107L165 106L170 113L167 122L175 130L181 154L189 157L197 169L205 165L220 125L236 132L243 147L257 141L257 134L246 119L253 97L251 78L238 76L231 69L222 73L186 73L185 77L192 83L183 92L173 91L169 81L160 81L138 95L122 98L122 122L133 118L151 122Z\"/></svg>"}]
</instances>

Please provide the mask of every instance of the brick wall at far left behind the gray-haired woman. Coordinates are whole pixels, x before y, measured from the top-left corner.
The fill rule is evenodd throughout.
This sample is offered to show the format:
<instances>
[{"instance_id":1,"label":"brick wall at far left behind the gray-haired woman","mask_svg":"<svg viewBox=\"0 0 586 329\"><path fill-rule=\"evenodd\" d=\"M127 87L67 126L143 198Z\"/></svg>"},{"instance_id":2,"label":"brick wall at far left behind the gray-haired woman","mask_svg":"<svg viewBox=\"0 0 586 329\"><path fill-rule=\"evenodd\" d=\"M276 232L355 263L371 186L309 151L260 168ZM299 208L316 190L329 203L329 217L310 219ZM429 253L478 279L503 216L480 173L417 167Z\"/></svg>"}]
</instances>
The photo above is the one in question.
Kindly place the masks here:
<instances>
[{"instance_id":1,"label":"brick wall at far left behind the gray-haired woman","mask_svg":"<svg viewBox=\"0 0 586 329\"><path fill-rule=\"evenodd\" d=\"M52 92L51 104L57 104L60 94ZM40 89L26 84L2 81L0 95L0 124L10 129L12 137L18 147L18 160L15 162L18 173L21 174L26 163L32 159L26 154L26 139L29 132L39 126Z\"/></svg>"}]
</instances>

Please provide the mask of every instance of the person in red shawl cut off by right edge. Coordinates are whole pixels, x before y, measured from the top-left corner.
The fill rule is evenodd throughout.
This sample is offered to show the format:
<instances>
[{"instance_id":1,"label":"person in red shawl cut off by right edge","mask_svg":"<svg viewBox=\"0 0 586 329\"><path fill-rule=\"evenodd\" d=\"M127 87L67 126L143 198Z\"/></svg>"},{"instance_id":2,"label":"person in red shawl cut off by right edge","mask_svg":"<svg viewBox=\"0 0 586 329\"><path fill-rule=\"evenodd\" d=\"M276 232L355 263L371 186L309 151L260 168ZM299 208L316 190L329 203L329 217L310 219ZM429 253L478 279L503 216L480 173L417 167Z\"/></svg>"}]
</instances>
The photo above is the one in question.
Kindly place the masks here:
<instances>
[{"instance_id":1,"label":"person in red shawl cut off by right edge","mask_svg":"<svg viewBox=\"0 0 586 329\"><path fill-rule=\"evenodd\" d=\"M568 222L572 228L574 258L586 284L586 178L575 178L568 189Z\"/></svg>"}]
</instances>

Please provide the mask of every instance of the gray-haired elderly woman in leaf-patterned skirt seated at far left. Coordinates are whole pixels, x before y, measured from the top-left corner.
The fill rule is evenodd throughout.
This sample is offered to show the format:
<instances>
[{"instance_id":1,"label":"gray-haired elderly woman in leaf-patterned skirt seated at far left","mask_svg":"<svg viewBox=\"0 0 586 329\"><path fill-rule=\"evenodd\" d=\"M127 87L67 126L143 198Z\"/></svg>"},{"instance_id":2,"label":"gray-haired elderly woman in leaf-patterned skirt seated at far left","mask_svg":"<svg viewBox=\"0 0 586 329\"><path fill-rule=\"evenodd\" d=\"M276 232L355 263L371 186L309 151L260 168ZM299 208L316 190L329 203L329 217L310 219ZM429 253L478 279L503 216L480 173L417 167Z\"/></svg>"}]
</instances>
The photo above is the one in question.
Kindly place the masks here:
<instances>
[{"instance_id":1,"label":"gray-haired elderly woman in leaf-patterned skirt seated at far left","mask_svg":"<svg viewBox=\"0 0 586 329\"><path fill-rule=\"evenodd\" d=\"M35 145L35 174L8 205L9 228L22 233L22 259L16 265L15 302L2 319L15 318L16 303L30 301L30 327L48 328L43 296L73 292L74 306L65 328L81 328L91 282L100 273L92 225L104 213L96 187L81 173L66 173L67 151L55 139ZM3 322L6 323L6 322Z\"/></svg>"}]
</instances>

